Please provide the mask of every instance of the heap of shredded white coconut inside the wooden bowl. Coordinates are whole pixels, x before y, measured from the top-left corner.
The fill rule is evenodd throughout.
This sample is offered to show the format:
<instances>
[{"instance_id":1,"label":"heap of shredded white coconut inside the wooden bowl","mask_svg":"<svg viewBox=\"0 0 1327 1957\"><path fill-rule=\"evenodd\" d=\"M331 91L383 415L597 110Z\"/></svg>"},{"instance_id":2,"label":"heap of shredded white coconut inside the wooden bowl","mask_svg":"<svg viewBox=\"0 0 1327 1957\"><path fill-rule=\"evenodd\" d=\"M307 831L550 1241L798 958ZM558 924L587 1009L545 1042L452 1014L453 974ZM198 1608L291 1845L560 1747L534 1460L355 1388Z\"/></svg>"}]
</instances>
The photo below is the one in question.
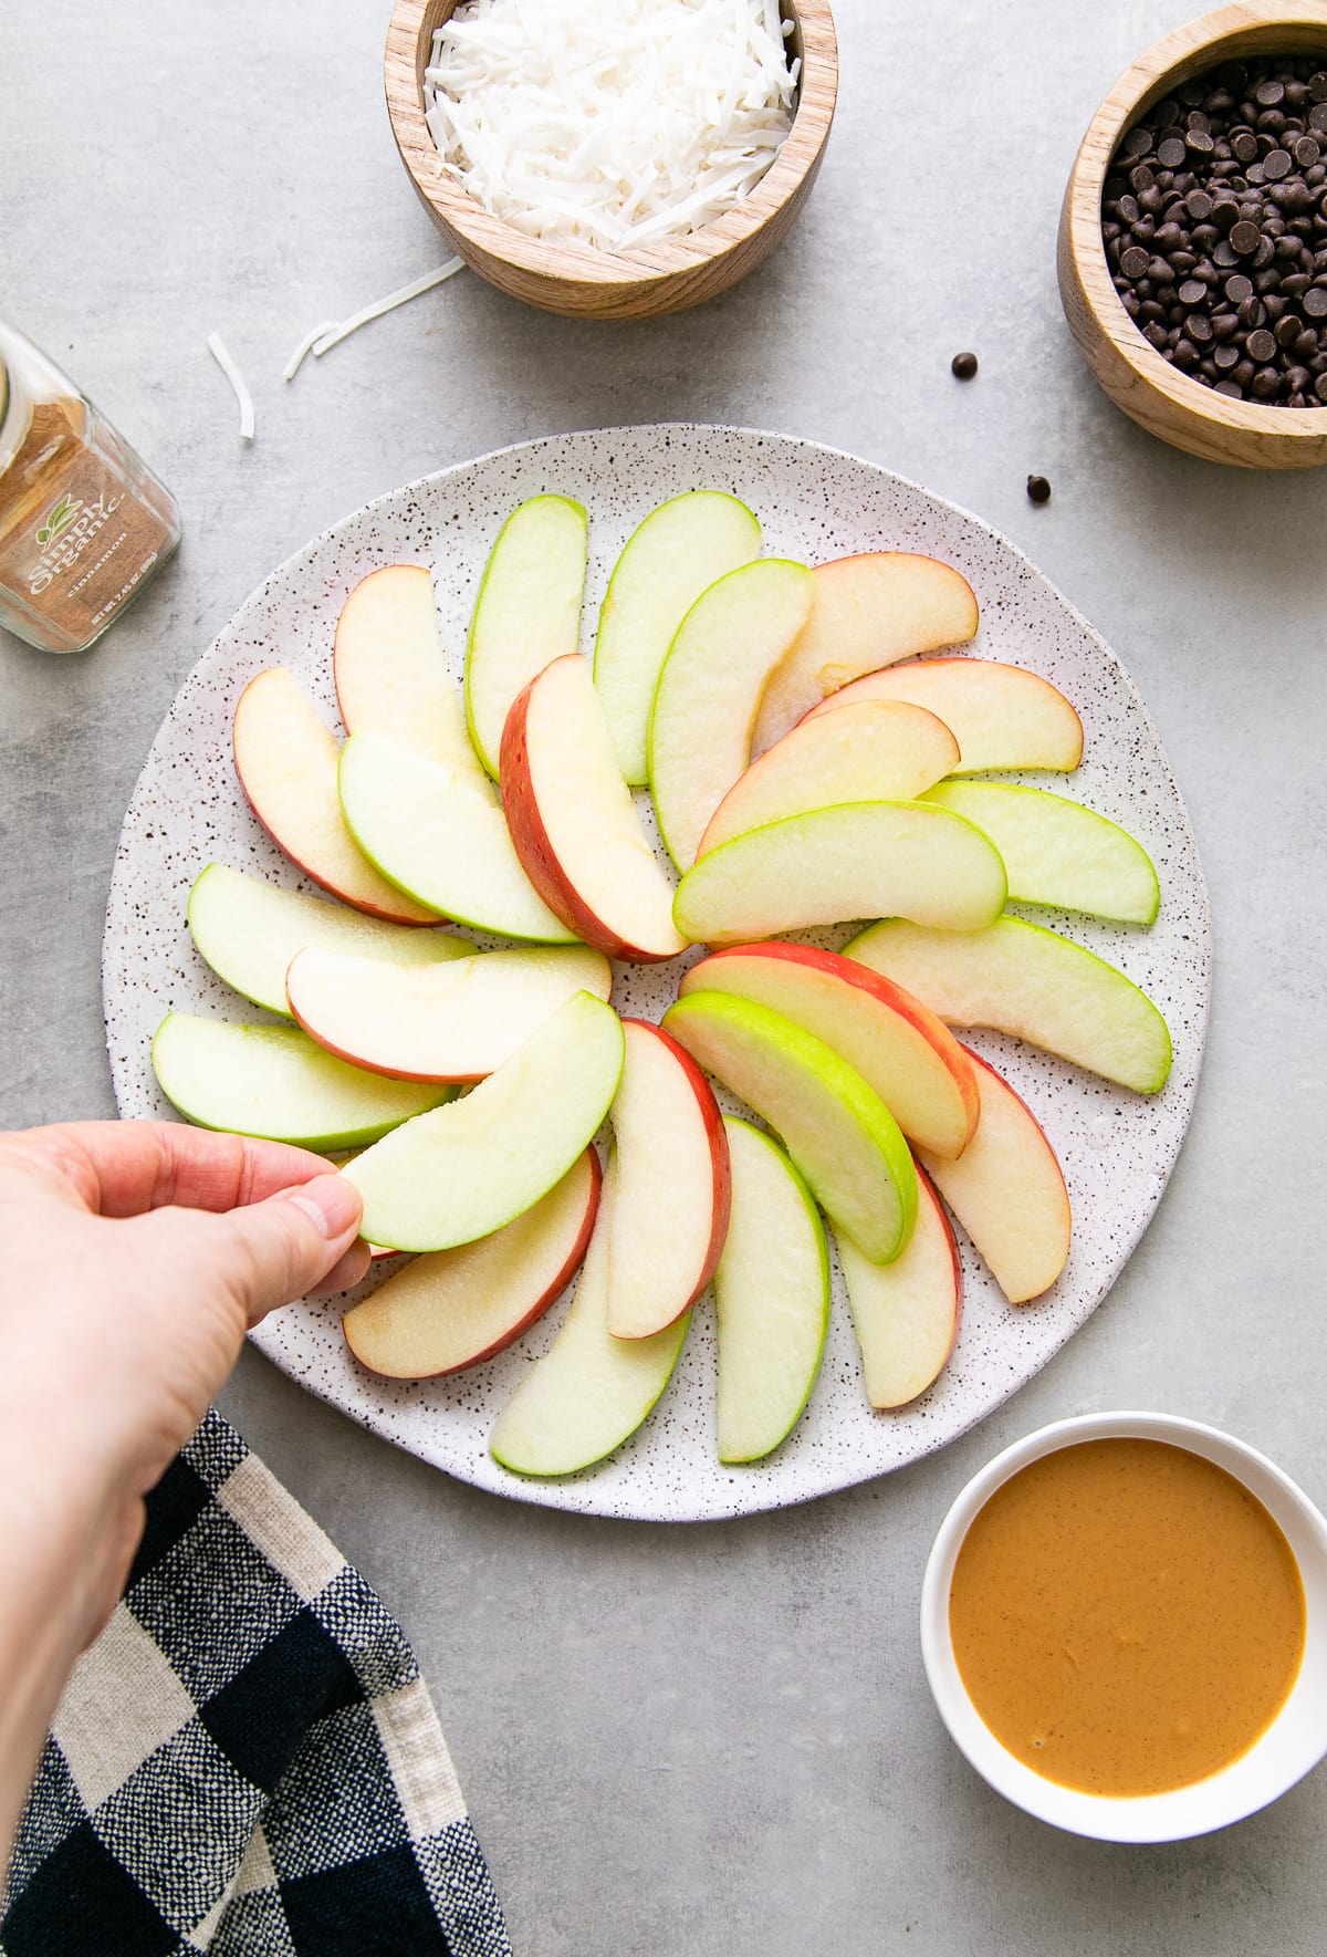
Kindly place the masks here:
<instances>
[{"instance_id":1,"label":"heap of shredded white coconut inside the wooden bowl","mask_svg":"<svg viewBox=\"0 0 1327 1957\"><path fill-rule=\"evenodd\" d=\"M442 168L530 237L632 250L744 198L793 127L779 0L464 0L433 37Z\"/></svg>"}]
</instances>

